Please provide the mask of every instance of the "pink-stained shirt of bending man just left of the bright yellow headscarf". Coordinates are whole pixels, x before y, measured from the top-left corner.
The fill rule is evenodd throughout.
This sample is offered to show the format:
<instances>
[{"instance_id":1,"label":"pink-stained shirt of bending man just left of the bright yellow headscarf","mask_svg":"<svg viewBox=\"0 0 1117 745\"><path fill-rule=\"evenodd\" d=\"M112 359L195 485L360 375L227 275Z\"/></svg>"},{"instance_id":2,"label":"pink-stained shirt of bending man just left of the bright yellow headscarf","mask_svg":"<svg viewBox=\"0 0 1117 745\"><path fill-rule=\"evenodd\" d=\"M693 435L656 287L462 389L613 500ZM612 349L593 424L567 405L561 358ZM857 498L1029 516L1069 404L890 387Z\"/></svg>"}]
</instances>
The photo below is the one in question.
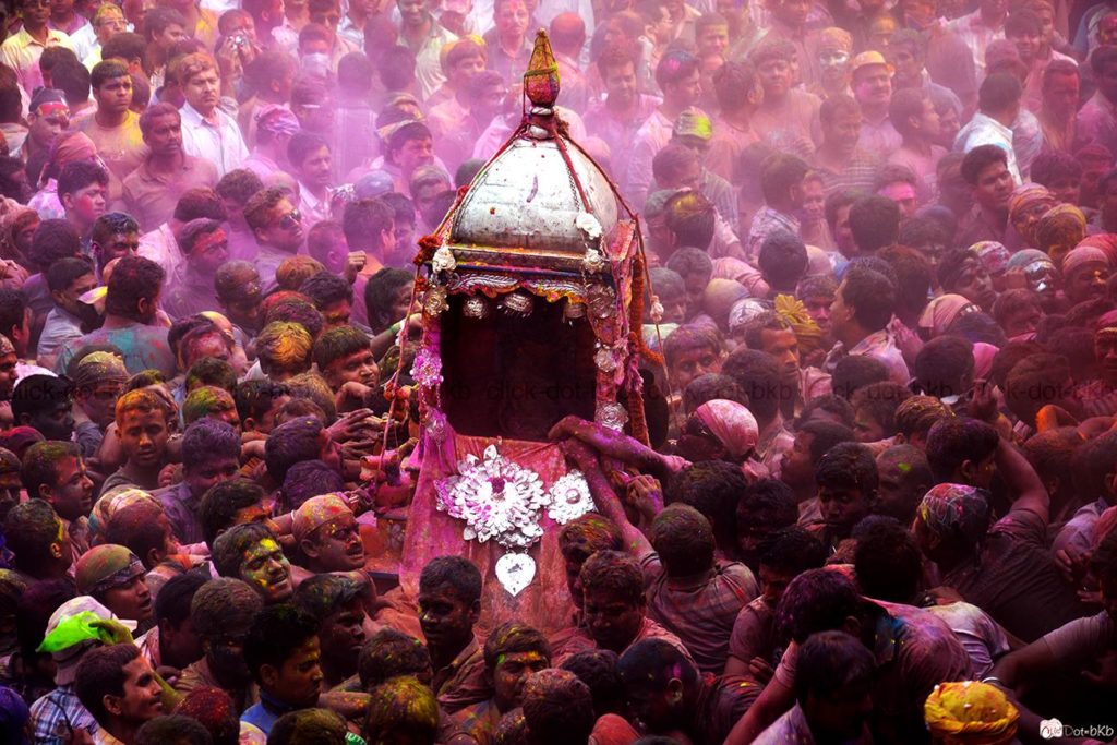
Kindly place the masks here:
<instances>
[{"instance_id":1,"label":"pink-stained shirt of bending man just left of the bright yellow headscarf","mask_svg":"<svg viewBox=\"0 0 1117 745\"><path fill-rule=\"evenodd\" d=\"M973 665L945 621L913 605L868 600L884 610L877 618L870 651L877 659L873 679L873 729L888 742L926 742L923 704L945 680L971 680ZM799 647L791 643L775 679L794 689Z\"/></svg>"}]
</instances>

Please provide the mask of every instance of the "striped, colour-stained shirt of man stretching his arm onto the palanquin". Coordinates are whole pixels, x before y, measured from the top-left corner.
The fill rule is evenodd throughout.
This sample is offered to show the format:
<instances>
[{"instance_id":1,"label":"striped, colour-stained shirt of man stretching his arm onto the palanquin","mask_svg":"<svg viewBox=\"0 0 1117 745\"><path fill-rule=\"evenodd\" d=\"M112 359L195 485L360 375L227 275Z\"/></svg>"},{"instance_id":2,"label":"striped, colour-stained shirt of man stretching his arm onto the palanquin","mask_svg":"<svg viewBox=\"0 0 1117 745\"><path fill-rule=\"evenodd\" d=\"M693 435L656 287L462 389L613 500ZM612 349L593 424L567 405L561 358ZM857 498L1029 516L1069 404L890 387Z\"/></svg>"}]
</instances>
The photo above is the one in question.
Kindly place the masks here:
<instances>
[{"instance_id":1,"label":"striped, colour-stained shirt of man stretching his arm onto the palanquin","mask_svg":"<svg viewBox=\"0 0 1117 745\"><path fill-rule=\"evenodd\" d=\"M650 572L646 562L649 574L648 617L686 644L698 669L720 675L734 621L758 593L752 571L739 562L719 562L699 576L672 579L657 561Z\"/></svg>"}]
</instances>

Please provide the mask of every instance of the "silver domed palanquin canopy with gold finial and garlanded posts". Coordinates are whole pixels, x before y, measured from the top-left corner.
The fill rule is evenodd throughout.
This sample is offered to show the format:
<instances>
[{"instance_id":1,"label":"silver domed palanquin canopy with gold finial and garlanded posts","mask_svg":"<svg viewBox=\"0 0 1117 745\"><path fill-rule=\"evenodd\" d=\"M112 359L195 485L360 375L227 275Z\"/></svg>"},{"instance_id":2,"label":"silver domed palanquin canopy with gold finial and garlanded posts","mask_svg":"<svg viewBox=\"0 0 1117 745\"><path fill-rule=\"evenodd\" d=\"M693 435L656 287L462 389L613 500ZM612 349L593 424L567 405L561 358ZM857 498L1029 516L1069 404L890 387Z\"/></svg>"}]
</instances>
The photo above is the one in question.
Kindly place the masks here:
<instances>
[{"instance_id":1,"label":"silver domed palanquin canopy with gold finial and garlanded posts","mask_svg":"<svg viewBox=\"0 0 1117 745\"><path fill-rule=\"evenodd\" d=\"M645 271L639 231L609 176L555 113L558 71L543 30L524 75L524 95L519 126L460 190L439 228L420 241L417 296L424 343L417 371L436 357L441 371L436 342L451 304L454 313L477 319L495 312L531 317L544 309L541 303L561 304L569 323L588 322L592 328L593 417L618 429L631 418L642 436L636 365ZM438 421L443 381L420 378L421 410ZM618 403L622 391L627 408Z\"/></svg>"}]
</instances>

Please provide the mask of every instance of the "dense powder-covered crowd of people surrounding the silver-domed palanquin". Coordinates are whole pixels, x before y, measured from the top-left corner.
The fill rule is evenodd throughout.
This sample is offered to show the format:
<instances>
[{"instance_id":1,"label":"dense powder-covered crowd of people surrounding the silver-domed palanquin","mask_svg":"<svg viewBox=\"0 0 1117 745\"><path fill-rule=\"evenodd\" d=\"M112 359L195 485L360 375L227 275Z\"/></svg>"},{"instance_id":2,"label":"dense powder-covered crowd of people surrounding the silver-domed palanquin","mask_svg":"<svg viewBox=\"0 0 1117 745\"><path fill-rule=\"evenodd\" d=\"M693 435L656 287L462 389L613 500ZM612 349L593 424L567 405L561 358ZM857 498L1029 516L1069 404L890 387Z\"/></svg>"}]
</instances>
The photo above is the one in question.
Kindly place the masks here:
<instances>
[{"instance_id":1,"label":"dense powder-covered crowd of people surrounding the silver-domed palanquin","mask_svg":"<svg viewBox=\"0 0 1117 745\"><path fill-rule=\"evenodd\" d=\"M1117 2L7 4L0 741L1114 742ZM536 29L648 437L552 422L572 604L488 624L398 585L413 259Z\"/></svg>"}]
</instances>

